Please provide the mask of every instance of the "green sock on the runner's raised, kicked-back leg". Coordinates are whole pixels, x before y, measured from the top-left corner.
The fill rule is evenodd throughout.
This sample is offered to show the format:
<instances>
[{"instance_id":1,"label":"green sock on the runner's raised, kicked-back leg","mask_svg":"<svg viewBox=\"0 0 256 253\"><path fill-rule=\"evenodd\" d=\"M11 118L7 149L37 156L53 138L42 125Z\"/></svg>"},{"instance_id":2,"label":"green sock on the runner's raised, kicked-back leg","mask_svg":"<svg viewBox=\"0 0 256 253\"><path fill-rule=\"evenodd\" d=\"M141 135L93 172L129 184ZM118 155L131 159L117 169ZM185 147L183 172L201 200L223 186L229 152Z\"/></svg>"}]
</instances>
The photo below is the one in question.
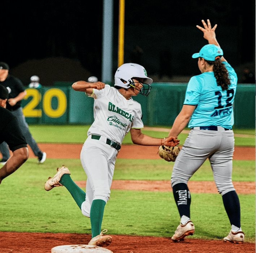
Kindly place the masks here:
<instances>
[{"instance_id":1,"label":"green sock on the runner's raised, kicked-back leg","mask_svg":"<svg viewBox=\"0 0 256 253\"><path fill-rule=\"evenodd\" d=\"M69 174L64 174L60 179L60 183L68 189L78 207L81 209L81 205L85 200L85 192L75 184Z\"/></svg>"}]
</instances>

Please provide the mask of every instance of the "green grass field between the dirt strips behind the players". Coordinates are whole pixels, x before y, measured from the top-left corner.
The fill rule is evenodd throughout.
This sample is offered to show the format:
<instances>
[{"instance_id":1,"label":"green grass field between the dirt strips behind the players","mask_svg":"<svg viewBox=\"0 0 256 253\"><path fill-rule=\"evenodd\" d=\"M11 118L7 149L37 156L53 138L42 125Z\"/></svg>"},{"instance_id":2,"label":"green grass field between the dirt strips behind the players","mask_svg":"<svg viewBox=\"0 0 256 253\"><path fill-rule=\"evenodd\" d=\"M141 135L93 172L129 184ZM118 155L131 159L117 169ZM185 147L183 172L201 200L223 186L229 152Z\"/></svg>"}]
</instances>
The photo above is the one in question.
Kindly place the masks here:
<instances>
[{"instance_id":1,"label":"green grass field between the dirt strips behind the players","mask_svg":"<svg viewBox=\"0 0 256 253\"><path fill-rule=\"evenodd\" d=\"M81 143L87 126L31 126L38 142ZM165 132L152 132L165 136ZM255 145L249 130L237 131L246 143ZM61 136L61 137L60 137ZM126 136L129 143L129 136ZM242 145L242 144L241 144ZM248 144L249 145L249 144ZM37 164L29 158L21 168L0 185L0 231L65 232L90 234L90 220L84 217L65 187L44 190L44 182L56 168L65 164L74 181L86 180L79 159L50 159ZM170 180L173 163L164 160L117 159L115 179ZM191 178L213 181L206 161ZM255 181L255 161L233 161L234 181ZM245 185L246 187L246 185ZM193 238L222 239L230 230L220 194L191 193L191 219L196 232ZM255 194L239 194L242 229L247 242L255 242ZM179 214L172 192L112 190L105 207L102 229L110 234L172 236L179 223Z\"/></svg>"}]
</instances>

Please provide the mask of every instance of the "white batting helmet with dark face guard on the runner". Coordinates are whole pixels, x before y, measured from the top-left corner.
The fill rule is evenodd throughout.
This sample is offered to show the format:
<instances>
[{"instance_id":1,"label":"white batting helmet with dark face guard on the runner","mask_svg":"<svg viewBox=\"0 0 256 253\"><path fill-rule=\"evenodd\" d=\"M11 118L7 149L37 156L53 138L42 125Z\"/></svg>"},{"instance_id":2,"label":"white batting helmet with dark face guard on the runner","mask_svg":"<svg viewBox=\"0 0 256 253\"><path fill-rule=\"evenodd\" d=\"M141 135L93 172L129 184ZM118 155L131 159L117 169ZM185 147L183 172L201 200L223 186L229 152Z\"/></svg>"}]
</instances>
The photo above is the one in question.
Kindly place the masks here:
<instances>
[{"instance_id":1,"label":"white batting helmet with dark face guard on the runner","mask_svg":"<svg viewBox=\"0 0 256 253\"><path fill-rule=\"evenodd\" d=\"M136 63L125 63L117 69L114 76L114 86L119 86L125 89L129 89L130 87L135 88L132 80L134 77L144 78L144 83L142 89L140 89L140 94L147 96L152 88L150 84L153 82L153 80L147 77L146 69L142 65ZM126 81L126 83L123 81Z\"/></svg>"}]
</instances>

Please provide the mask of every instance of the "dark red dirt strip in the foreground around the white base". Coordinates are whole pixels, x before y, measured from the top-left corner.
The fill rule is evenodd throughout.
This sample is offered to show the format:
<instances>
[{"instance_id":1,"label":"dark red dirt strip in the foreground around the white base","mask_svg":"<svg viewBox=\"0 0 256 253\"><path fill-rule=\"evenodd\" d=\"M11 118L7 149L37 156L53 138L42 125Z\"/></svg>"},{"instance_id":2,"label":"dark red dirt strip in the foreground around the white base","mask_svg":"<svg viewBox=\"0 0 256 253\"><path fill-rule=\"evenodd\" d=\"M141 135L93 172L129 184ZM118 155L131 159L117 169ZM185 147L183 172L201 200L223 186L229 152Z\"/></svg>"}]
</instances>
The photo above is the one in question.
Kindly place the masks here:
<instances>
[{"instance_id":1,"label":"dark red dirt strip in the foreground around the white base","mask_svg":"<svg viewBox=\"0 0 256 253\"><path fill-rule=\"evenodd\" d=\"M108 249L113 253L255 253L255 244L224 243L189 237L181 243L170 238L112 235ZM0 232L1 253L51 253L58 245L87 244L88 234Z\"/></svg>"}]
</instances>

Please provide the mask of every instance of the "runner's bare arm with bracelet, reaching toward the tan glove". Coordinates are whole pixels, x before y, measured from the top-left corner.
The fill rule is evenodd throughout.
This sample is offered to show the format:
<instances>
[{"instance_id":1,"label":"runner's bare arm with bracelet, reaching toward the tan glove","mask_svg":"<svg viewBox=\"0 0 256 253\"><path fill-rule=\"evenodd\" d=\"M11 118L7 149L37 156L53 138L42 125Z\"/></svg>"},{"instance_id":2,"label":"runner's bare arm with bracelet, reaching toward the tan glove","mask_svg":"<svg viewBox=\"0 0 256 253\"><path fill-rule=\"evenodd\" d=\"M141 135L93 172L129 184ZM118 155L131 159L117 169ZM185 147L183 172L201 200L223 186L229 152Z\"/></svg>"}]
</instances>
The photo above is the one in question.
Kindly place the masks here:
<instances>
[{"instance_id":1,"label":"runner's bare arm with bracelet, reaching toward the tan glove","mask_svg":"<svg viewBox=\"0 0 256 253\"><path fill-rule=\"evenodd\" d=\"M140 129L131 128L130 130L131 140L134 144L145 146L176 146L179 144L179 140L176 136L168 136L166 138L154 138L149 135L145 135Z\"/></svg>"}]
</instances>

